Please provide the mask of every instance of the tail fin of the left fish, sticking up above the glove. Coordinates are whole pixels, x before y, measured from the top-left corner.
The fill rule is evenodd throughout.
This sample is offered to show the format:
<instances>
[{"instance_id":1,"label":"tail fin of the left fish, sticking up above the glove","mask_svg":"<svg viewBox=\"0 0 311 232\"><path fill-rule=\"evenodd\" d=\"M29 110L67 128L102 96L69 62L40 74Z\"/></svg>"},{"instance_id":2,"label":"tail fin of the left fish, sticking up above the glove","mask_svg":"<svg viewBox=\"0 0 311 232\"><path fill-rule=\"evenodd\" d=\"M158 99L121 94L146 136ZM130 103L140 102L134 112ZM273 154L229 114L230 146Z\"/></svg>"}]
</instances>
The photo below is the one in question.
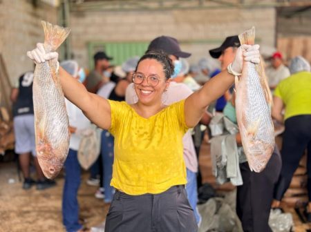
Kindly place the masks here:
<instances>
[{"instance_id":1,"label":"tail fin of the left fish, sticking up above the glove","mask_svg":"<svg viewBox=\"0 0 311 232\"><path fill-rule=\"evenodd\" d=\"M50 48L50 51L55 51L68 37L70 28L53 25L47 21L41 21L44 28L44 44Z\"/></svg>"}]
</instances>

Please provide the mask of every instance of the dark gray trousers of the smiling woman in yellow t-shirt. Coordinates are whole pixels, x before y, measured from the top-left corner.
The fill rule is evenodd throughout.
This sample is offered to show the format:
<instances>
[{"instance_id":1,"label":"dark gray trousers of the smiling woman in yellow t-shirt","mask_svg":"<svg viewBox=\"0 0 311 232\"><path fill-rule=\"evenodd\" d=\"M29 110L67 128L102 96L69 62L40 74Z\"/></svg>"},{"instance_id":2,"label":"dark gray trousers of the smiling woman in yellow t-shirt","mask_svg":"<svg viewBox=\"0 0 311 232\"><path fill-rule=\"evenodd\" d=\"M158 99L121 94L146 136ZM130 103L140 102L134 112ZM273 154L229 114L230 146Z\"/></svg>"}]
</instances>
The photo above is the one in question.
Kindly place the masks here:
<instances>
[{"instance_id":1,"label":"dark gray trousers of the smiling woman in yellow t-shirt","mask_svg":"<svg viewBox=\"0 0 311 232\"><path fill-rule=\"evenodd\" d=\"M198 226L185 186L159 194L128 195L116 191L105 232L196 232Z\"/></svg>"}]
</instances>

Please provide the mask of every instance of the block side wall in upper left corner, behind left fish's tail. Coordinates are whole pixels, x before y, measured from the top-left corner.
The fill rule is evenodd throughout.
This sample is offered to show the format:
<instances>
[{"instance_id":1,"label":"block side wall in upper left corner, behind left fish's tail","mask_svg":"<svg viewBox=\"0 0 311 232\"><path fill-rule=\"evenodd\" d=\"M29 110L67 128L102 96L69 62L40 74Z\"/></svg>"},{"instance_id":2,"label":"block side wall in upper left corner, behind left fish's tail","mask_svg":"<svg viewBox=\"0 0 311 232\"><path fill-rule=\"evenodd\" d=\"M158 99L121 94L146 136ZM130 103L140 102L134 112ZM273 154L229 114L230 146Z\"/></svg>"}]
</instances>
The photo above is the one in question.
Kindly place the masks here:
<instances>
[{"instance_id":1,"label":"block side wall in upper left corner, behind left fish's tail","mask_svg":"<svg viewBox=\"0 0 311 232\"><path fill-rule=\"evenodd\" d=\"M37 7L29 0L0 1L0 53L12 85L23 72L33 69L26 52L44 41L41 20L56 23L57 9L41 1Z\"/></svg>"}]
</instances>

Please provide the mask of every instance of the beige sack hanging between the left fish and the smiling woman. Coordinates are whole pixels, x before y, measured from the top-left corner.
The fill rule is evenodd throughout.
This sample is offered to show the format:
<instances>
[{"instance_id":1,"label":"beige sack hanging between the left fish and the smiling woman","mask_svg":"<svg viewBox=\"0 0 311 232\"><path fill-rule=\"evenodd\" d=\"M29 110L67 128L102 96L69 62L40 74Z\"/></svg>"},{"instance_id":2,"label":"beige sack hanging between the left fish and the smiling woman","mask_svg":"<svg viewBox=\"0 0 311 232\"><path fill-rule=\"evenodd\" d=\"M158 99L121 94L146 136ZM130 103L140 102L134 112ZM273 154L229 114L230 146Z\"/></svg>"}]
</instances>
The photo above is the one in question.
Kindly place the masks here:
<instances>
[{"instance_id":1,"label":"beige sack hanging between the left fish and the smiling woman","mask_svg":"<svg viewBox=\"0 0 311 232\"><path fill-rule=\"evenodd\" d=\"M93 133L88 136L83 136L79 145L79 150L77 152L77 158L79 164L88 170L91 165L97 160L100 155L100 135L102 134L102 129L96 128L93 125Z\"/></svg>"}]
</instances>

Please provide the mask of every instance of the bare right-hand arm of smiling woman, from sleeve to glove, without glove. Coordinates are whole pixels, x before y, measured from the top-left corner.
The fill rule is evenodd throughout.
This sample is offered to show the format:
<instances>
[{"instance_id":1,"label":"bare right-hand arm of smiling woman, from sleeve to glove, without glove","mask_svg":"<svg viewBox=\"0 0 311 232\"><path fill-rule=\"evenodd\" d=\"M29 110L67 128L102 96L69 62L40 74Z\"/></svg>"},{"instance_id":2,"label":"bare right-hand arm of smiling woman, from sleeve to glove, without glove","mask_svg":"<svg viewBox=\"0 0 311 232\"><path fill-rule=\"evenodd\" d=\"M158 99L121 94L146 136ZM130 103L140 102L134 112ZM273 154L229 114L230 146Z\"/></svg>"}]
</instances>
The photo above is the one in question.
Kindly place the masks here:
<instances>
[{"instance_id":1,"label":"bare right-hand arm of smiling woman, from sleeve to glove, without glove","mask_svg":"<svg viewBox=\"0 0 311 232\"><path fill-rule=\"evenodd\" d=\"M185 101L185 121L190 128L200 121L207 106L222 96L234 83L234 75L223 70L207 81L200 90L191 94Z\"/></svg>"}]
</instances>

